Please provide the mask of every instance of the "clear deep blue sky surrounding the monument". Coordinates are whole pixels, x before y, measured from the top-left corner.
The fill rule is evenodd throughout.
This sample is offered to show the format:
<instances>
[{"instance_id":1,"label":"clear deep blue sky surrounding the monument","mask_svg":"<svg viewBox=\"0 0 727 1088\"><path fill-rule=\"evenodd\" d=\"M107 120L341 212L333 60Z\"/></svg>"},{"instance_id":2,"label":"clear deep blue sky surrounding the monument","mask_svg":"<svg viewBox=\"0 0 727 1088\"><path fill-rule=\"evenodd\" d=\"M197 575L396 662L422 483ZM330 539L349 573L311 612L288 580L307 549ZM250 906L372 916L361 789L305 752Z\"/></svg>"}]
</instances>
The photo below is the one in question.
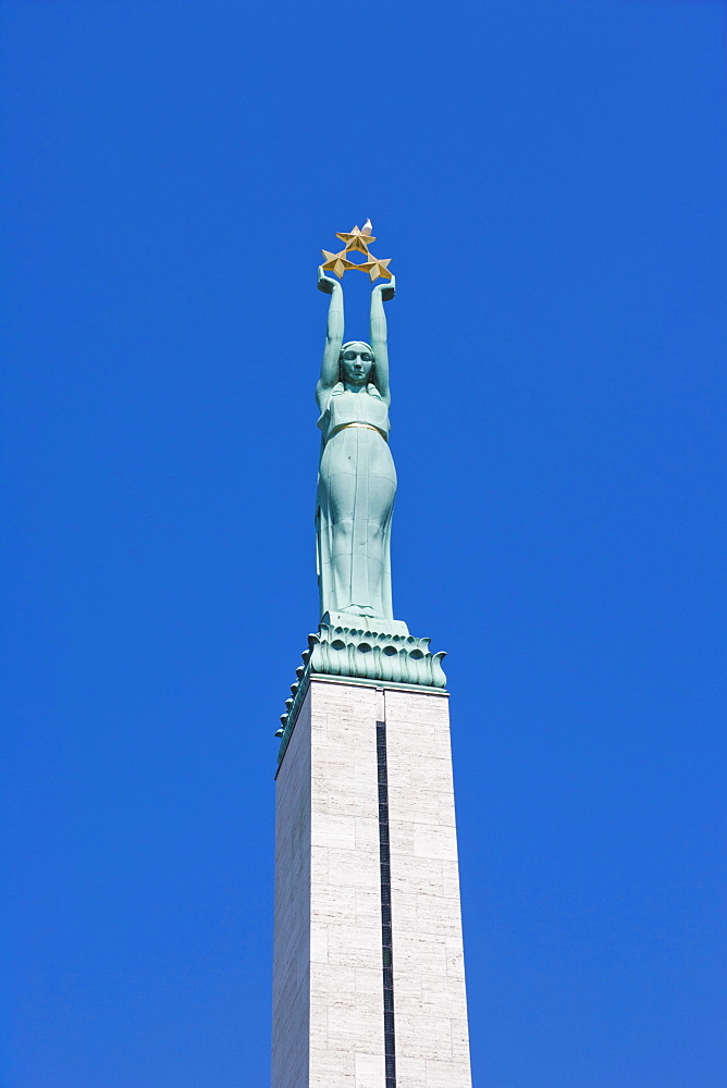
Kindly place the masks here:
<instances>
[{"instance_id":1,"label":"clear deep blue sky surrounding the monument","mask_svg":"<svg viewBox=\"0 0 727 1088\"><path fill-rule=\"evenodd\" d=\"M268 1081L316 265L368 215L476 1088L724 1088L725 5L0 11L3 1088Z\"/></svg>"}]
</instances>

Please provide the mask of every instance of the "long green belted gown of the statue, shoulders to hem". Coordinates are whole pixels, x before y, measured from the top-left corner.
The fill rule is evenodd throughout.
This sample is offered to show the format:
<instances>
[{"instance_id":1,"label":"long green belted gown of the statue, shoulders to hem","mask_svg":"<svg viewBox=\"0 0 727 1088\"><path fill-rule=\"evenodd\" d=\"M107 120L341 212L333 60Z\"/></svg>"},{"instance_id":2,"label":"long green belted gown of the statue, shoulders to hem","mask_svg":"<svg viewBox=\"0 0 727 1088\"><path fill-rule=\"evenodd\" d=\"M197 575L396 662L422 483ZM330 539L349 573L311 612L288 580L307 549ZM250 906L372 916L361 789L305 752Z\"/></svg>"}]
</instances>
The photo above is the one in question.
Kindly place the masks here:
<instances>
[{"instance_id":1,"label":"long green belted gown of the statue, shoulders to hem","mask_svg":"<svg viewBox=\"0 0 727 1088\"><path fill-rule=\"evenodd\" d=\"M323 432L316 509L321 615L392 619L396 470L389 408L375 385L350 393L340 382L318 425Z\"/></svg>"}]
</instances>

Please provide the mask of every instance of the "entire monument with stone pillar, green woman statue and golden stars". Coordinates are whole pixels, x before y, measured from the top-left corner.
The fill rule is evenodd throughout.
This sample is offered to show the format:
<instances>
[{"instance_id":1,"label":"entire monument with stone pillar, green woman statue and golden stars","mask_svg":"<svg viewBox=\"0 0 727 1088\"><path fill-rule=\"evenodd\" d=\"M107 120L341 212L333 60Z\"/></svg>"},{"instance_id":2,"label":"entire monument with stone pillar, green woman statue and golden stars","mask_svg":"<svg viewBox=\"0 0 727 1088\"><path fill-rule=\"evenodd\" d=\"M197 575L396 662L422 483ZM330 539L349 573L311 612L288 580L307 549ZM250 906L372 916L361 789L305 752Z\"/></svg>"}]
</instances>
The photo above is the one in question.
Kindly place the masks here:
<instances>
[{"instance_id":1,"label":"entire monument with stone pillar, green woman statue and golden stars","mask_svg":"<svg viewBox=\"0 0 727 1088\"><path fill-rule=\"evenodd\" d=\"M337 237L318 270L321 619L276 734L272 1088L471 1088L444 654L392 606L395 280L369 222ZM344 342L356 269L383 280L370 343Z\"/></svg>"}]
</instances>

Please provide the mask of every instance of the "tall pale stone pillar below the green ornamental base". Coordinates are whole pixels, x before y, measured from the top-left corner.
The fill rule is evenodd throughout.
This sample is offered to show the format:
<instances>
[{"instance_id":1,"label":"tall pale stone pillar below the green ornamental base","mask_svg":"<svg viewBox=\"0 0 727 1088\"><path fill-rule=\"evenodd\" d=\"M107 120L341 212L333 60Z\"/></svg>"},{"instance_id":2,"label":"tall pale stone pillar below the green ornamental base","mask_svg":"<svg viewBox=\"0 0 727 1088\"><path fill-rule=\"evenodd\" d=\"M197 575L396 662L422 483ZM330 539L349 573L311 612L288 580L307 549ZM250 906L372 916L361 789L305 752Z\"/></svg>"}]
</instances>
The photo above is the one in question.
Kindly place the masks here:
<instances>
[{"instance_id":1,"label":"tall pale stone pillar below the green ornamental base","mask_svg":"<svg viewBox=\"0 0 727 1088\"><path fill-rule=\"evenodd\" d=\"M448 698L311 673L276 782L272 1088L470 1088Z\"/></svg>"}]
</instances>

